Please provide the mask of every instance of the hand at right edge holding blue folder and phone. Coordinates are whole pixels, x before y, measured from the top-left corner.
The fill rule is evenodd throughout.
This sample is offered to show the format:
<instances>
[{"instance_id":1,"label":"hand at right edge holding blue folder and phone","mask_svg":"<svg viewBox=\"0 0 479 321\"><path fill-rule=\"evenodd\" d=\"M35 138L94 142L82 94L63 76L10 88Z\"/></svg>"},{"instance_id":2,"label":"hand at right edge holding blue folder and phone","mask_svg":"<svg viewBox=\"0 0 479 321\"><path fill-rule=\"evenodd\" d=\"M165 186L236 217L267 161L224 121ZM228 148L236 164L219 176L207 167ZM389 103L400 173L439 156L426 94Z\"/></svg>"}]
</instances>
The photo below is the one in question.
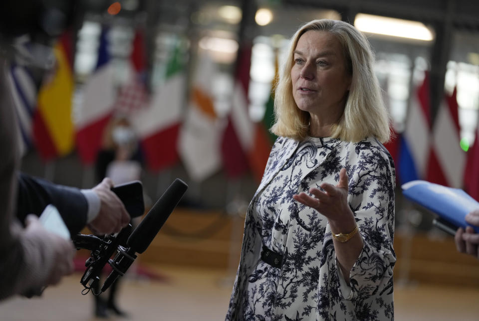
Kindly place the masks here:
<instances>
[{"instance_id":1,"label":"hand at right edge holding blue folder and phone","mask_svg":"<svg viewBox=\"0 0 479 321\"><path fill-rule=\"evenodd\" d=\"M479 226L479 209L466 215L466 222ZM458 252L470 254L479 259L479 233L476 233L471 226L463 229L460 227L454 237Z\"/></svg>"}]
</instances>

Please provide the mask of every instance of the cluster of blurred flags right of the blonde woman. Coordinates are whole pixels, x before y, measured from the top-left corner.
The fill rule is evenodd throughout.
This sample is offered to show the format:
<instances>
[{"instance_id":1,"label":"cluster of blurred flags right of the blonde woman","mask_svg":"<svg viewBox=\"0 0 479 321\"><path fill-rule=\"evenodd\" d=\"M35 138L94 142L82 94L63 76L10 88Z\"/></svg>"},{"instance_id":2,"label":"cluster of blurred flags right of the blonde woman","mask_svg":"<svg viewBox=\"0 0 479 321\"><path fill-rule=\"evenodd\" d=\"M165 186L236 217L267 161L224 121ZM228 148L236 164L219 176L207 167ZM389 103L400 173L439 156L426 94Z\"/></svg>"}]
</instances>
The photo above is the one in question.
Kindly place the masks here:
<instances>
[{"instance_id":1,"label":"cluster of blurred flags right of the blonde woman","mask_svg":"<svg viewBox=\"0 0 479 321\"><path fill-rule=\"evenodd\" d=\"M432 124L429 73L413 93L403 133L386 144L401 184L415 179L464 188L479 200L479 132L466 153L460 145L457 88L445 94ZM479 129L478 129L479 130Z\"/></svg>"}]
</instances>

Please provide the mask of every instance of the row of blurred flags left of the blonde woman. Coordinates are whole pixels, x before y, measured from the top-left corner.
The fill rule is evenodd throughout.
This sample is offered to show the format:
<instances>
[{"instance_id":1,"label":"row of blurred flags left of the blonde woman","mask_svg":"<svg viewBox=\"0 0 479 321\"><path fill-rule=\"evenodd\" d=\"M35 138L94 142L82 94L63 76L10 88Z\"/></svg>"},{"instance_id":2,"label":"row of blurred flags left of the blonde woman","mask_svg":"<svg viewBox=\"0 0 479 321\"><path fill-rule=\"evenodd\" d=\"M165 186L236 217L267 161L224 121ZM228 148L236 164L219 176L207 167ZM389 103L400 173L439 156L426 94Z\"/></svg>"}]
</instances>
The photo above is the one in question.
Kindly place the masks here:
<instances>
[{"instance_id":1,"label":"row of blurred flags left of the blonde woman","mask_svg":"<svg viewBox=\"0 0 479 321\"><path fill-rule=\"evenodd\" d=\"M184 53L180 42L174 42L164 81L149 93L145 41L143 33L136 32L128 80L118 88L107 33L104 29L100 35L95 70L75 91L69 35L55 46L56 66L39 89L15 86L16 100L21 102L16 105L23 110L18 113L19 123L25 125L19 135L24 137L25 146L32 145L29 140L33 137L33 145L46 161L75 149L82 163L89 165L96 160L107 124L122 115L129 120L150 170L160 171L182 161L196 181L221 169L232 178L252 170L260 179L274 140L267 136L262 123L253 123L248 115L251 45L239 50L231 113L225 120L215 110L212 83L218 67L208 53L199 55L186 97ZM12 83L25 83L21 72L28 69L17 66L12 70ZM27 103L23 103L23 96Z\"/></svg>"}]
</instances>

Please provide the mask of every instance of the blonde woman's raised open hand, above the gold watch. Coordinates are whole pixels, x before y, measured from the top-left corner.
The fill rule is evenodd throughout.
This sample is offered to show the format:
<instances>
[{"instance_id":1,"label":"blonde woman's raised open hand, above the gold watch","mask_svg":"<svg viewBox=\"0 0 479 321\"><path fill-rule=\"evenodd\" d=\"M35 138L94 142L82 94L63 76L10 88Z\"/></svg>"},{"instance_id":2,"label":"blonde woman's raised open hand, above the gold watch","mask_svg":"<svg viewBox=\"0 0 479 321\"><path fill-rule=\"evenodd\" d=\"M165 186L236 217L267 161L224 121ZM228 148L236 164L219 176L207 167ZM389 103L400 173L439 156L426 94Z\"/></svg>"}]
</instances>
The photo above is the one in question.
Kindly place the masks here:
<instances>
[{"instance_id":1,"label":"blonde woman's raised open hand, above the gold watch","mask_svg":"<svg viewBox=\"0 0 479 321\"><path fill-rule=\"evenodd\" d=\"M314 197L309 196L305 192L293 195L293 199L298 202L314 208L328 220L344 222L344 218L354 217L348 204L348 174L346 168L342 168L339 172L339 182L336 186L328 183L322 183L320 187L324 190L311 187L309 192ZM348 221L348 219L346 219Z\"/></svg>"}]
</instances>

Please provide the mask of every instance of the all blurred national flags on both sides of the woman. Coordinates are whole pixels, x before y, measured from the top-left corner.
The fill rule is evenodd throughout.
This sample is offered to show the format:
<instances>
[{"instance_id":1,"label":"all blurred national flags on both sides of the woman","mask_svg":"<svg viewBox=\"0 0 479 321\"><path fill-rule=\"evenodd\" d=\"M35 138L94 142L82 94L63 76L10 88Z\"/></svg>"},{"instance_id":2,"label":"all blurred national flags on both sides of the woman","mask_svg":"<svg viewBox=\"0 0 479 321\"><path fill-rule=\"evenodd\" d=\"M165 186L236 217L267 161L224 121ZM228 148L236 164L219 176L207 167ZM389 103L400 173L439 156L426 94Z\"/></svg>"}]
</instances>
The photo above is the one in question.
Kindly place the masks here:
<instances>
[{"instance_id":1,"label":"all blurred national flags on both sides of the woman","mask_svg":"<svg viewBox=\"0 0 479 321\"><path fill-rule=\"evenodd\" d=\"M128 81L115 87L115 66L102 31L95 71L75 97L72 111L73 75L71 43L65 35L55 46L54 73L36 90L25 68L13 66L11 81L24 145L31 138L40 156L53 159L76 149L84 164L92 164L101 147L102 133L116 114L126 115L139 139L146 166L163 170L179 161L195 181L223 169L229 177L245 173L259 180L274 135L273 90L262 122L248 115L251 44L238 51L231 110L226 120L215 109L212 83L217 65L200 53L186 97L187 74L179 42L171 54L164 82L149 93L145 85L146 55L143 34L133 40ZM275 54L275 79L278 62ZM38 92L38 93L37 93ZM37 94L36 94L37 93ZM400 183L414 179L465 188L479 200L479 132L466 154L460 148L457 90L445 95L434 125L431 121L429 74L413 93L405 131L386 144L396 163ZM72 114L73 113L73 114ZM73 117L71 116L73 115ZM30 120L30 122L28 121Z\"/></svg>"}]
</instances>

